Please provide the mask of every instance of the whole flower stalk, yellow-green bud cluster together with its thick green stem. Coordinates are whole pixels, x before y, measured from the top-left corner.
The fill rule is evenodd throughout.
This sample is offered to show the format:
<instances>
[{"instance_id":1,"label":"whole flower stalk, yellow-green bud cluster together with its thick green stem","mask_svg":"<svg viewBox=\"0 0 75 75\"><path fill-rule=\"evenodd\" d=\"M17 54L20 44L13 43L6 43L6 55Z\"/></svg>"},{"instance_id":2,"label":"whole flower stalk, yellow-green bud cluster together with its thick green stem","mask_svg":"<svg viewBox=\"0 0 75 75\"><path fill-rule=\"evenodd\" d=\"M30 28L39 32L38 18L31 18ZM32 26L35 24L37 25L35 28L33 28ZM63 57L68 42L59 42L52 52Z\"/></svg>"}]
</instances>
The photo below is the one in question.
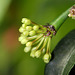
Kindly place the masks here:
<instances>
[{"instance_id":1,"label":"whole flower stalk, yellow-green bud cluster together with its thick green stem","mask_svg":"<svg viewBox=\"0 0 75 75\"><path fill-rule=\"evenodd\" d=\"M25 45L24 52L30 52L31 57L39 58L43 55L43 60L48 63L51 59L51 39L56 35L56 31L60 28L62 23L70 17L75 16L75 6L66 10L57 19L47 25L40 25L32 22L30 19L23 18L22 26L19 29L21 33L19 41ZM70 11L70 13L69 13ZM73 11L73 12L72 12Z\"/></svg>"}]
</instances>

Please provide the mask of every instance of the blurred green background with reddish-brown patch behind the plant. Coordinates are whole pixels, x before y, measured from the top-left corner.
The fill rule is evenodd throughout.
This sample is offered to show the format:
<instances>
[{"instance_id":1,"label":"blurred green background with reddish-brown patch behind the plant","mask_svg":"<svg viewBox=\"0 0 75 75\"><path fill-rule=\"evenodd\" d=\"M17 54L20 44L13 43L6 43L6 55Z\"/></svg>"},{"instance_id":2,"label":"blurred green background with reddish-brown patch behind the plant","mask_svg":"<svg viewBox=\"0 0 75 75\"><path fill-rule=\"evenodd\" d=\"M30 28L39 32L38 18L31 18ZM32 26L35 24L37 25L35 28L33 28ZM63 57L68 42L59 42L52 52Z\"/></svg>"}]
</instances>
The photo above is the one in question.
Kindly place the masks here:
<instances>
[{"instance_id":1,"label":"blurred green background with reddish-brown patch behind the plant","mask_svg":"<svg viewBox=\"0 0 75 75\"><path fill-rule=\"evenodd\" d=\"M75 0L0 0L0 75L44 75L45 63L31 58L18 42L21 19L27 17L45 25L75 3ZM75 20L68 18L52 39L51 50L71 30Z\"/></svg>"}]
</instances>

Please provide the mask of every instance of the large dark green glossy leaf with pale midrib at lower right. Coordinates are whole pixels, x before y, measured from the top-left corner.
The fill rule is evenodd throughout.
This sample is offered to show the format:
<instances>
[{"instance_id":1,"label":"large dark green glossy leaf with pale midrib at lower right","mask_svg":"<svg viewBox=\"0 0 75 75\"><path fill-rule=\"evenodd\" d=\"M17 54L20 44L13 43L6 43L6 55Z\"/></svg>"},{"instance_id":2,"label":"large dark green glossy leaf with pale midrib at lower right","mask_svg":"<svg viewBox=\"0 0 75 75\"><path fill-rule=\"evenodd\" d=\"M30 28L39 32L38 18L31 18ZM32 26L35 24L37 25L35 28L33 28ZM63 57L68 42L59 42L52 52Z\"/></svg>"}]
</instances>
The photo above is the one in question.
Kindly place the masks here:
<instances>
[{"instance_id":1,"label":"large dark green glossy leaf with pale midrib at lower right","mask_svg":"<svg viewBox=\"0 0 75 75\"><path fill-rule=\"evenodd\" d=\"M54 58L46 65L45 75L69 75L75 65L75 30L63 38L54 50Z\"/></svg>"}]
</instances>

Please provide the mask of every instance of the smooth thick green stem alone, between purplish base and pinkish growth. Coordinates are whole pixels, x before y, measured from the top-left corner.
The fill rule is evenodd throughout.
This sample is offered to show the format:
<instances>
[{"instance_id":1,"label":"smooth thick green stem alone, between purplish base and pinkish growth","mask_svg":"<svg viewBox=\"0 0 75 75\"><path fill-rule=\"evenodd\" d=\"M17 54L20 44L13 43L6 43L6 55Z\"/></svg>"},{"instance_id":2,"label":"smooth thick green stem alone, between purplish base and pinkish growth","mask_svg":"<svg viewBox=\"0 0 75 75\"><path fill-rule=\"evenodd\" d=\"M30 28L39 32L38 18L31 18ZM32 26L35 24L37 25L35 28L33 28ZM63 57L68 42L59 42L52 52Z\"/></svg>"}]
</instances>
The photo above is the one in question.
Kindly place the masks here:
<instances>
[{"instance_id":1,"label":"smooth thick green stem alone, between purplish base and pinkish growth","mask_svg":"<svg viewBox=\"0 0 75 75\"><path fill-rule=\"evenodd\" d=\"M74 4L75 5L75 4ZM50 25L53 25L55 27L55 30L57 31L60 26L62 25L62 23L65 22L65 20L67 19L68 17L68 14L69 14L69 10L71 9L72 7L70 7L68 10L66 10L64 13L62 13L58 18L56 18L54 21L52 21L50 23Z\"/></svg>"}]
</instances>

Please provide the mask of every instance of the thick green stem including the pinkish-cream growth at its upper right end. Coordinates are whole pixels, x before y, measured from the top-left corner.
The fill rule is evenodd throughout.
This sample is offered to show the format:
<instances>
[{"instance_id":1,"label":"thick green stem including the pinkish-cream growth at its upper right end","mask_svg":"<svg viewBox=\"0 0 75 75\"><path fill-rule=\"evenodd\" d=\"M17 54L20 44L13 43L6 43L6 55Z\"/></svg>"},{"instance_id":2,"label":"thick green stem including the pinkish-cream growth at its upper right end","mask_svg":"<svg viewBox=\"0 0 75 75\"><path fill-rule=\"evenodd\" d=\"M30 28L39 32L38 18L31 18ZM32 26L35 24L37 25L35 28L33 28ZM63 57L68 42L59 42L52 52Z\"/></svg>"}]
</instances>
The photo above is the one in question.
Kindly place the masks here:
<instances>
[{"instance_id":1,"label":"thick green stem including the pinkish-cream growth at its upper right end","mask_svg":"<svg viewBox=\"0 0 75 75\"><path fill-rule=\"evenodd\" d=\"M71 11L72 9L74 10L74 14ZM73 16L75 17L75 4L50 23L51 25L53 25L55 27L56 31L61 27L61 25L68 18L69 13L71 13L71 15L69 17L73 17Z\"/></svg>"}]
</instances>

